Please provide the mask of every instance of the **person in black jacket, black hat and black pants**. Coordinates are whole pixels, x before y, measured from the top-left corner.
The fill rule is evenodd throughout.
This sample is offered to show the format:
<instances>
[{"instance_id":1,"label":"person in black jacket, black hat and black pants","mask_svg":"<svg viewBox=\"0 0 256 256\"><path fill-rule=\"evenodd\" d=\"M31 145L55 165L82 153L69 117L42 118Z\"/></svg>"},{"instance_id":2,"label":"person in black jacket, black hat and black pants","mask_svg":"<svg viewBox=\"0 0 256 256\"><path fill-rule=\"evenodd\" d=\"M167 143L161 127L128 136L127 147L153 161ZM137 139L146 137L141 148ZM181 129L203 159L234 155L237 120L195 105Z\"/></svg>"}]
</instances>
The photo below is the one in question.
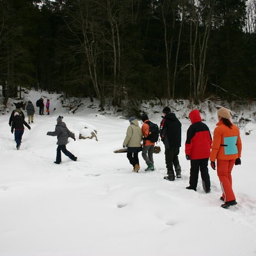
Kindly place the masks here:
<instances>
[{"instance_id":1,"label":"person in black jacket, black hat and black pants","mask_svg":"<svg viewBox=\"0 0 256 256\"><path fill-rule=\"evenodd\" d=\"M167 175L164 179L175 180L175 169L177 179L181 178L181 168L179 163L179 152L181 146L181 124L169 107L163 109L163 120L160 124L160 137L164 143L165 163Z\"/></svg>"}]
</instances>

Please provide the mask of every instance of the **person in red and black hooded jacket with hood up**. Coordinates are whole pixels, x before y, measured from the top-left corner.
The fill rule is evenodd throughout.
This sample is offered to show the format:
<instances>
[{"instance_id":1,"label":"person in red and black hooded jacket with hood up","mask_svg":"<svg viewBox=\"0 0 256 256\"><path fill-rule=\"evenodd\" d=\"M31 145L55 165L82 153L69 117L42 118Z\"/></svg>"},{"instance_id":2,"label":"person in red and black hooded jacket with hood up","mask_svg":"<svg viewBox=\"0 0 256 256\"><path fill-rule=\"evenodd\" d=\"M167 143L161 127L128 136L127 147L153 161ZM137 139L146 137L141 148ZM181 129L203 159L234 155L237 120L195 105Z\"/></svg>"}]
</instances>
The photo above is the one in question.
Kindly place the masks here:
<instances>
[{"instance_id":1,"label":"person in red and black hooded jacket with hood up","mask_svg":"<svg viewBox=\"0 0 256 256\"><path fill-rule=\"evenodd\" d=\"M208 172L208 161L211 154L212 137L211 132L202 118L198 109L189 113L191 125L187 131L185 143L186 159L190 160L189 186L186 189L196 191L198 173L201 172L202 184L205 193L211 191L211 181Z\"/></svg>"}]
</instances>

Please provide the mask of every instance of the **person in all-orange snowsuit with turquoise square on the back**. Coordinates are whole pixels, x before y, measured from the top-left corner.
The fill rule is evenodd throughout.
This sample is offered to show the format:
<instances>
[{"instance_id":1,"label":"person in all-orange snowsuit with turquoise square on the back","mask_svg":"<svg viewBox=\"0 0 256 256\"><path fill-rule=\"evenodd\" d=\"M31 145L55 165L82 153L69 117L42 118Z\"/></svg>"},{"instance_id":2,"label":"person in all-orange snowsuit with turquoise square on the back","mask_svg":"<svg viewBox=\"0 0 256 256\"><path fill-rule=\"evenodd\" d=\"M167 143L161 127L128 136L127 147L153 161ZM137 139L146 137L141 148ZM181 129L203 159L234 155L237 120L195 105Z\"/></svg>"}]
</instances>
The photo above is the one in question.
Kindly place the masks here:
<instances>
[{"instance_id":1,"label":"person in all-orange snowsuit with turquoise square on the back","mask_svg":"<svg viewBox=\"0 0 256 256\"><path fill-rule=\"evenodd\" d=\"M219 122L213 133L210 161L212 169L216 170L217 159L217 174L223 191L220 200L225 202L221 207L228 208L237 204L231 172L234 165L241 164L242 142L238 127L230 121L229 109L220 108L217 113Z\"/></svg>"}]
</instances>

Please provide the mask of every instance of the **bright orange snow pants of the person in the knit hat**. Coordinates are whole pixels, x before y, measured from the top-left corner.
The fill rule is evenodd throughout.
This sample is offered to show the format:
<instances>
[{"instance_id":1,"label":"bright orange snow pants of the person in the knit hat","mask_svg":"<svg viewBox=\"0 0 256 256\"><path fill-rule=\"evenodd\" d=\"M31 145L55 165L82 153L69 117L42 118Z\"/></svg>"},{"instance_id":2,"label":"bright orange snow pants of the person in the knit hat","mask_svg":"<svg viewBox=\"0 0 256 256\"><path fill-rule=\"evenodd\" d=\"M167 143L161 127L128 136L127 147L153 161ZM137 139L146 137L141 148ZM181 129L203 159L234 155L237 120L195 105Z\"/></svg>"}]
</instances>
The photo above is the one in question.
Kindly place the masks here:
<instances>
[{"instance_id":1,"label":"bright orange snow pants of the person in the knit hat","mask_svg":"<svg viewBox=\"0 0 256 256\"><path fill-rule=\"evenodd\" d=\"M217 174L220 179L220 186L223 192L223 198L225 202L236 200L232 189L232 168L236 159L232 160L220 160L217 159Z\"/></svg>"}]
</instances>

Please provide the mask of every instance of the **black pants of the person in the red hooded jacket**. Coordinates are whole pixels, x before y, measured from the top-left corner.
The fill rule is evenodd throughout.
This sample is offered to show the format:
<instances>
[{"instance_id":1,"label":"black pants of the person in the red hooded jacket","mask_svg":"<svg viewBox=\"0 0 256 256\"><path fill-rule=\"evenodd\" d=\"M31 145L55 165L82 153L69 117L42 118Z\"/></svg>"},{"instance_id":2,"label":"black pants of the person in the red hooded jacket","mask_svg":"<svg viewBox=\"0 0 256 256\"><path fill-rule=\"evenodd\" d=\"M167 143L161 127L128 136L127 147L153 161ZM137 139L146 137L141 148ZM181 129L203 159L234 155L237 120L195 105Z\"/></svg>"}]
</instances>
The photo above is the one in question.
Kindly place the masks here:
<instances>
[{"instance_id":1,"label":"black pants of the person in the red hooded jacket","mask_svg":"<svg viewBox=\"0 0 256 256\"><path fill-rule=\"evenodd\" d=\"M208 161L209 161L209 158L195 159L190 161L191 168L190 168L189 185L191 188L196 189L199 170L201 172L204 190L209 190L211 188L211 181L210 181L210 176L208 172Z\"/></svg>"}]
</instances>

